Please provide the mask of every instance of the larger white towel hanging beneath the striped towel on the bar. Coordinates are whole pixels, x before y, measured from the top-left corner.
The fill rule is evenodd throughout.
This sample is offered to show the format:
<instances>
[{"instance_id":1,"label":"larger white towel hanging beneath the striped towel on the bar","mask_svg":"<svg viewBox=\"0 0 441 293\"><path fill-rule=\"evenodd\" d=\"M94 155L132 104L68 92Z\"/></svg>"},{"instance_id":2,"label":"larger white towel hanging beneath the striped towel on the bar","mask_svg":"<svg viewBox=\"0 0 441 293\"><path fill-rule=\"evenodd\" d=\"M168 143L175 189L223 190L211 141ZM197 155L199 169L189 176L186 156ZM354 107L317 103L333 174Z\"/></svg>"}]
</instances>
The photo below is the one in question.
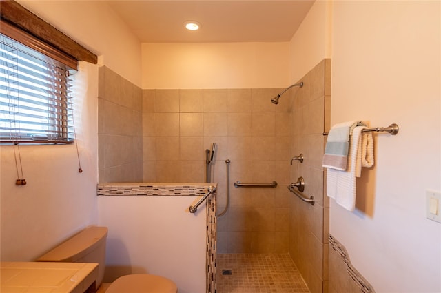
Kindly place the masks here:
<instances>
[{"instance_id":1,"label":"larger white towel hanging beneath the striped towel on the bar","mask_svg":"<svg viewBox=\"0 0 441 293\"><path fill-rule=\"evenodd\" d=\"M356 206L356 176L360 177L362 167L362 130L365 126L357 126L353 129L349 140L349 154L347 161L347 170L338 171L331 168L327 169L327 196L336 200L336 203L343 208L353 211ZM365 132L366 138L372 134ZM369 139L367 139L369 141ZM365 151L372 155L369 159L373 163L372 143ZM372 152L370 151L370 148Z\"/></svg>"}]
</instances>

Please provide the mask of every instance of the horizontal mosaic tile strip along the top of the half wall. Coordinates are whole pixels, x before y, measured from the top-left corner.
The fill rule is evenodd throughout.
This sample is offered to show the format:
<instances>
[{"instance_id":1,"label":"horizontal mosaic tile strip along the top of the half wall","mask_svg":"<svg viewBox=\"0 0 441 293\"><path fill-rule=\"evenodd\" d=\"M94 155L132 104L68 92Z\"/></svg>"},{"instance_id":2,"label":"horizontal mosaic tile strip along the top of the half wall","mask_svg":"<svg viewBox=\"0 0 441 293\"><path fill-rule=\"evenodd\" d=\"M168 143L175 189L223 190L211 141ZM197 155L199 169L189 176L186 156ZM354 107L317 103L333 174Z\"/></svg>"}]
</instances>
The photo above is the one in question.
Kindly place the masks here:
<instances>
[{"instance_id":1,"label":"horizontal mosaic tile strip along the top of the half wall","mask_svg":"<svg viewBox=\"0 0 441 293\"><path fill-rule=\"evenodd\" d=\"M207 191L203 184L101 183L96 187L98 196L200 196Z\"/></svg>"}]
</instances>

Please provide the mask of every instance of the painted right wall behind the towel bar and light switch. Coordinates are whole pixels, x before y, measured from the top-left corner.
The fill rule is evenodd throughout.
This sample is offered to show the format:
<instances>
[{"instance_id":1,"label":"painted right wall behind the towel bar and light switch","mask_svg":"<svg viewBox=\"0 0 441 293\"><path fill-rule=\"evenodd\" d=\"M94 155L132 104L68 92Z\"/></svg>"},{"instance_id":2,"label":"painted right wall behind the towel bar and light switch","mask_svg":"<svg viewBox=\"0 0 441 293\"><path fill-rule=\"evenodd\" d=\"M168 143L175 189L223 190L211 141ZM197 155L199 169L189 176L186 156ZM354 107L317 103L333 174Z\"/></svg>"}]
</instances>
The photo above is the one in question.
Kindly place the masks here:
<instances>
[{"instance_id":1,"label":"painted right wall behind the towel bar and light switch","mask_svg":"<svg viewBox=\"0 0 441 293\"><path fill-rule=\"evenodd\" d=\"M373 134L375 166L356 211L330 203L330 232L376 292L441 292L441 224L425 218L441 191L441 2L335 1L331 123L397 123Z\"/></svg>"}]
</instances>

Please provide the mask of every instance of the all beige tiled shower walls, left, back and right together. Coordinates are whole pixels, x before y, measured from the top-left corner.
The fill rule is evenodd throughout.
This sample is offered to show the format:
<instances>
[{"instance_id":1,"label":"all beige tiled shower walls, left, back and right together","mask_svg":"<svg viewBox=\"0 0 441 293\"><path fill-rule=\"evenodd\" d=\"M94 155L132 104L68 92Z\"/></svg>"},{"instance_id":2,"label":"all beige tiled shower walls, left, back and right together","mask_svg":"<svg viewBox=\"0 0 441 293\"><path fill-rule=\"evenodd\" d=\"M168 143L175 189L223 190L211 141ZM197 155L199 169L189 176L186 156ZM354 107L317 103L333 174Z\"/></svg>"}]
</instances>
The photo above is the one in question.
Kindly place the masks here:
<instances>
[{"instance_id":1,"label":"all beige tiled shower walls, left, back and right together","mask_svg":"<svg viewBox=\"0 0 441 293\"><path fill-rule=\"evenodd\" d=\"M290 254L311 292L327 292L329 203L323 196L322 132L329 128L329 60L274 105L283 89L141 90L109 68L99 74L99 182L203 182L216 143L218 254ZM326 117L326 119L325 119ZM304 163L292 156L305 156ZM287 190L298 176L300 201ZM234 182L277 188L234 188ZM222 293L222 292L221 292Z\"/></svg>"}]
</instances>

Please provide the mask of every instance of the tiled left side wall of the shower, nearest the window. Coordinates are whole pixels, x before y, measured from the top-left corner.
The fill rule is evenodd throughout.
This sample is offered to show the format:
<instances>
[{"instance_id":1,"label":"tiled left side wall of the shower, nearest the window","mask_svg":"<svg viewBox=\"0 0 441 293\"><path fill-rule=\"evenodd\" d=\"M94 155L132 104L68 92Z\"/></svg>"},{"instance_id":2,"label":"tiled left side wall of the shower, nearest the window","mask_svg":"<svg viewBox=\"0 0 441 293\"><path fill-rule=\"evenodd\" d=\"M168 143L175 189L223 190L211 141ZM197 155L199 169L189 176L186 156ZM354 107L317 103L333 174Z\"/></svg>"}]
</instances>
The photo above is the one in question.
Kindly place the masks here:
<instances>
[{"instance_id":1,"label":"tiled left side wall of the shower, nearest the window","mask_svg":"<svg viewBox=\"0 0 441 293\"><path fill-rule=\"evenodd\" d=\"M99 183L143 180L142 91L99 68Z\"/></svg>"}]
</instances>

